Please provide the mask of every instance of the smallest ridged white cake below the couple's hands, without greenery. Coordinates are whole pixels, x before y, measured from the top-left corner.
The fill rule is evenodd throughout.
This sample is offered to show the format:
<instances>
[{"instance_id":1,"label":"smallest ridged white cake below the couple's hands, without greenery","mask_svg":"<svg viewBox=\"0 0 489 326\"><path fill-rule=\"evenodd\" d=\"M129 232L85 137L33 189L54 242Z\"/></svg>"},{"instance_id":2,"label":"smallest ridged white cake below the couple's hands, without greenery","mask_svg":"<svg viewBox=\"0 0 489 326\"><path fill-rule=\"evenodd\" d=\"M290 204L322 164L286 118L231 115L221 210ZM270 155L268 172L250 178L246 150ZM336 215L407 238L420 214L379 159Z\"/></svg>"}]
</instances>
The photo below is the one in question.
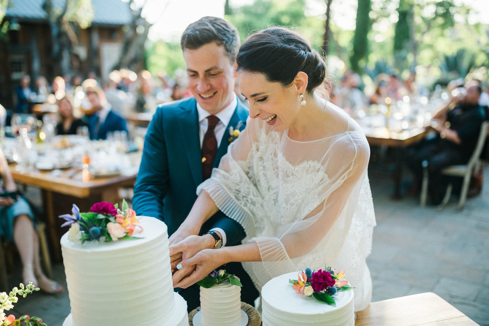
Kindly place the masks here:
<instances>
[{"instance_id":1,"label":"smallest ridged white cake below the couple's hands, without greenery","mask_svg":"<svg viewBox=\"0 0 489 326\"><path fill-rule=\"evenodd\" d=\"M200 287L200 308L204 325L238 325L241 321L241 287L228 281L208 289Z\"/></svg>"}]
</instances>

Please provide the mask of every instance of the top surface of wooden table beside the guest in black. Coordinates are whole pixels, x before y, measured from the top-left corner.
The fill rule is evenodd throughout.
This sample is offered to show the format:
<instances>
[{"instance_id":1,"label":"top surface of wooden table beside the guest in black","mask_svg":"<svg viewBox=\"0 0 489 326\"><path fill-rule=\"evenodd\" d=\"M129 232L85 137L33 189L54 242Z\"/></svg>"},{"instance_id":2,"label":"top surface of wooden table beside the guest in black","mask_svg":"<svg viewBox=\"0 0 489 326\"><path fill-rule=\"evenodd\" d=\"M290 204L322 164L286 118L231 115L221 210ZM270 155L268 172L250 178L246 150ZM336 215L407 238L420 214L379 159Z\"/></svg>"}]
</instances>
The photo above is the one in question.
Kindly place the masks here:
<instances>
[{"instance_id":1,"label":"top surface of wooden table beside the guest in black","mask_svg":"<svg viewBox=\"0 0 489 326\"><path fill-rule=\"evenodd\" d=\"M424 127L400 132L389 131L385 127L368 129L365 132L367 141L372 146L407 147L422 140L427 134Z\"/></svg>"}]
</instances>

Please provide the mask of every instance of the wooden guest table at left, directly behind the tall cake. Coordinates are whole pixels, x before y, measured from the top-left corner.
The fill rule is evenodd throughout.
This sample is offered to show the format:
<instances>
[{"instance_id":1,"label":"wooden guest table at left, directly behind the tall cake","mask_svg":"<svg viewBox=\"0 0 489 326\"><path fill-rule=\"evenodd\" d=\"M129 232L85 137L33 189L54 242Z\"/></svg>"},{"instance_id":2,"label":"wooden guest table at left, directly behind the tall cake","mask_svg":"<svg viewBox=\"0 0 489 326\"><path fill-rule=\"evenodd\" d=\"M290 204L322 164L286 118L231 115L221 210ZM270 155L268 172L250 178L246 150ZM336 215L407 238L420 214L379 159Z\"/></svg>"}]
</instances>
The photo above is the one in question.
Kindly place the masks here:
<instances>
[{"instance_id":1,"label":"wooden guest table at left, directly behind the tall cake","mask_svg":"<svg viewBox=\"0 0 489 326\"><path fill-rule=\"evenodd\" d=\"M131 159L132 161L140 160L140 157L141 153L132 153ZM10 165L10 171L16 182L41 188L46 224L55 261L61 261L60 238L68 229L61 229L64 220L58 216L71 213L73 204L76 204L81 211L89 211L91 205L96 202L116 203L119 199L118 189L134 186L137 175L137 171L135 171L130 175L91 178L84 182L81 174L69 178L67 176L53 177L49 171L19 172L16 170L15 164Z\"/></svg>"}]
</instances>

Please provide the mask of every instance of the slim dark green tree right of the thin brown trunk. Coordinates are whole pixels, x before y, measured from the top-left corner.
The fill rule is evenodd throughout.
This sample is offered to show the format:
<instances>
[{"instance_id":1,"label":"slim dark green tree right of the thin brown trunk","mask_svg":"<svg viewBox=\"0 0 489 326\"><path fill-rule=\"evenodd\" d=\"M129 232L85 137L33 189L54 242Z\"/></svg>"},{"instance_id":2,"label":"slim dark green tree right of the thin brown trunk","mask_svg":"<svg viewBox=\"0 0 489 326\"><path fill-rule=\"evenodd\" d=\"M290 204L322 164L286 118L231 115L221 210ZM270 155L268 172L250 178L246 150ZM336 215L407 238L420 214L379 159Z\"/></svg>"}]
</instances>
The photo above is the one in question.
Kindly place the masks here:
<instances>
[{"instance_id":1,"label":"slim dark green tree right of the thin brown trunk","mask_svg":"<svg viewBox=\"0 0 489 326\"><path fill-rule=\"evenodd\" d=\"M353 38L353 54L350 58L352 70L356 72L360 72L360 60L367 54L367 35L370 30L370 6L371 0L358 0L355 36ZM365 63L363 66L365 66Z\"/></svg>"}]
</instances>

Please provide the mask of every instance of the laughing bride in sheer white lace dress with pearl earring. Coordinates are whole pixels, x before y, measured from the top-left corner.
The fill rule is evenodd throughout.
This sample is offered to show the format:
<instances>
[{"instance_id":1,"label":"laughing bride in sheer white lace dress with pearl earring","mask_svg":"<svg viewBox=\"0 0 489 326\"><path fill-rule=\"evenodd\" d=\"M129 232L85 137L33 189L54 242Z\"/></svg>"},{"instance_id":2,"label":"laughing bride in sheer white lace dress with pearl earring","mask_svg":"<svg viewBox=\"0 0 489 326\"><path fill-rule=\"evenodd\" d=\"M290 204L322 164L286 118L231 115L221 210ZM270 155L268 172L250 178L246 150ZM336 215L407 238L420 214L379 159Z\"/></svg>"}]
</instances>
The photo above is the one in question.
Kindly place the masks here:
<instances>
[{"instance_id":1,"label":"laughing bride in sheer white lace dress with pearl earring","mask_svg":"<svg viewBox=\"0 0 489 326\"><path fill-rule=\"evenodd\" d=\"M188 287L231 261L243 263L258 289L285 273L332 266L356 287L355 310L366 308L372 280L365 258L375 215L364 134L319 95L326 65L299 34L283 27L253 34L237 63L249 101L246 128L198 187L179 231L198 234L222 210L246 238L217 250L200 250L195 235L171 246L174 287Z\"/></svg>"}]
</instances>

